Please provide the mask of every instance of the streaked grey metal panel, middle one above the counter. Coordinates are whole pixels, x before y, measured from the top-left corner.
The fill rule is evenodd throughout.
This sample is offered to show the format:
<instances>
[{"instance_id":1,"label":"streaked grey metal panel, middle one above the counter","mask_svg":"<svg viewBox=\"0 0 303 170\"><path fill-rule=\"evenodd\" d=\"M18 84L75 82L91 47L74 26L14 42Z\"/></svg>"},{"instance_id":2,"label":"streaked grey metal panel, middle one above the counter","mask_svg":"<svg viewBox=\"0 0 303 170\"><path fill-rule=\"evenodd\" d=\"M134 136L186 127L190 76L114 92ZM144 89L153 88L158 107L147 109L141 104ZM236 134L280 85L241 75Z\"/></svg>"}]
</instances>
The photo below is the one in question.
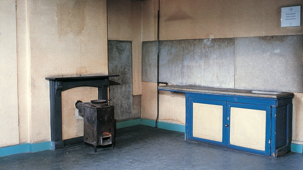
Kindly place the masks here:
<instances>
[{"instance_id":1,"label":"streaked grey metal panel, middle one above the counter","mask_svg":"<svg viewBox=\"0 0 303 170\"><path fill-rule=\"evenodd\" d=\"M235 39L184 40L182 83L234 87Z\"/></svg>"}]
</instances>

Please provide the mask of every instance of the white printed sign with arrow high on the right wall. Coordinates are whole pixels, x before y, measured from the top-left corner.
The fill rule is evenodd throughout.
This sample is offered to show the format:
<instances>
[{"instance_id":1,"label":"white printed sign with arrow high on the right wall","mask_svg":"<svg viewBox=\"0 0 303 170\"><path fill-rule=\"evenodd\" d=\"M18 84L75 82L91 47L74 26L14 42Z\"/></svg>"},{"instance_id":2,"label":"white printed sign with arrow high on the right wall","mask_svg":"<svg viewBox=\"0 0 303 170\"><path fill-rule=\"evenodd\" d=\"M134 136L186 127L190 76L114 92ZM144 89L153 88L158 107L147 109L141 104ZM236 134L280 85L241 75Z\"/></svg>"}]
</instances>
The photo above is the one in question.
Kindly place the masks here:
<instances>
[{"instance_id":1,"label":"white printed sign with arrow high on the right wall","mask_svg":"<svg viewBox=\"0 0 303 170\"><path fill-rule=\"evenodd\" d=\"M301 26L301 6L281 8L281 27Z\"/></svg>"}]
</instances>

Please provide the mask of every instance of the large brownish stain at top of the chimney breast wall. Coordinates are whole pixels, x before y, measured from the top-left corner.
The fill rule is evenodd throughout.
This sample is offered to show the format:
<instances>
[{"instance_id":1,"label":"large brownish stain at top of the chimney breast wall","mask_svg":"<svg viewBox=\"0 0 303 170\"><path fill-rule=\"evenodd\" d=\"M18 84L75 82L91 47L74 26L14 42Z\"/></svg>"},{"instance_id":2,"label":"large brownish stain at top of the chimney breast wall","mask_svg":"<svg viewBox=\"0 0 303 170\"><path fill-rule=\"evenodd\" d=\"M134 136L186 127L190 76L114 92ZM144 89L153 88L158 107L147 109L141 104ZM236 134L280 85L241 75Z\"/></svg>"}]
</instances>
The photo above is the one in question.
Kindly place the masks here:
<instances>
[{"instance_id":1,"label":"large brownish stain at top of the chimney breast wall","mask_svg":"<svg viewBox=\"0 0 303 170\"><path fill-rule=\"evenodd\" d=\"M79 36L85 27L85 1L74 0L74 4L57 4L58 33L60 37L68 34Z\"/></svg>"}]
</instances>

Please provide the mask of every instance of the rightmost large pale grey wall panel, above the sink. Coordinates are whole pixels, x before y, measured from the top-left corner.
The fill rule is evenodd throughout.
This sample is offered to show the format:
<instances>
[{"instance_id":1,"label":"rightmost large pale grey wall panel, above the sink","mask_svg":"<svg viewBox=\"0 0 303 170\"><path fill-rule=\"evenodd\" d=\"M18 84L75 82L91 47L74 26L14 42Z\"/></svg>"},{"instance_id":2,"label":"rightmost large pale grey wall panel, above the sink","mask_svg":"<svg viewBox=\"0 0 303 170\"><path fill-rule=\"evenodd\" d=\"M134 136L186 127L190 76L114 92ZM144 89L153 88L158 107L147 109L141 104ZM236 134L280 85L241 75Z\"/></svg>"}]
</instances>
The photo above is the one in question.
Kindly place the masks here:
<instances>
[{"instance_id":1,"label":"rightmost large pale grey wall panel, above the sink","mask_svg":"<svg viewBox=\"0 0 303 170\"><path fill-rule=\"evenodd\" d=\"M235 88L303 92L303 35L236 38Z\"/></svg>"}]
</instances>

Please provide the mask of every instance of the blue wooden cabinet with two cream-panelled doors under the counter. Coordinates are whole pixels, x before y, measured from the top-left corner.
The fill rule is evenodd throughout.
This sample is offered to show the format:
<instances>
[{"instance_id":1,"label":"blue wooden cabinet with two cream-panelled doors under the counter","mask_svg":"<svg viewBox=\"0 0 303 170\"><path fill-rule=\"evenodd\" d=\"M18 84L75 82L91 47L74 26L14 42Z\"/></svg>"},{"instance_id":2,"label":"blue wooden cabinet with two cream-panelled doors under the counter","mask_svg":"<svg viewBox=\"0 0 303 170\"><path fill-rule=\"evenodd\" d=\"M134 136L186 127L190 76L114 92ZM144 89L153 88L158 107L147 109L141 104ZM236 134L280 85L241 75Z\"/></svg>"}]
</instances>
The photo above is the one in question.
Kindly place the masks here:
<instances>
[{"instance_id":1,"label":"blue wooden cabinet with two cream-panelled doors under the counter","mask_svg":"<svg viewBox=\"0 0 303 170\"><path fill-rule=\"evenodd\" d=\"M185 93L186 140L272 158L291 150L292 93L268 97L158 89Z\"/></svg>"}]
</instances>

